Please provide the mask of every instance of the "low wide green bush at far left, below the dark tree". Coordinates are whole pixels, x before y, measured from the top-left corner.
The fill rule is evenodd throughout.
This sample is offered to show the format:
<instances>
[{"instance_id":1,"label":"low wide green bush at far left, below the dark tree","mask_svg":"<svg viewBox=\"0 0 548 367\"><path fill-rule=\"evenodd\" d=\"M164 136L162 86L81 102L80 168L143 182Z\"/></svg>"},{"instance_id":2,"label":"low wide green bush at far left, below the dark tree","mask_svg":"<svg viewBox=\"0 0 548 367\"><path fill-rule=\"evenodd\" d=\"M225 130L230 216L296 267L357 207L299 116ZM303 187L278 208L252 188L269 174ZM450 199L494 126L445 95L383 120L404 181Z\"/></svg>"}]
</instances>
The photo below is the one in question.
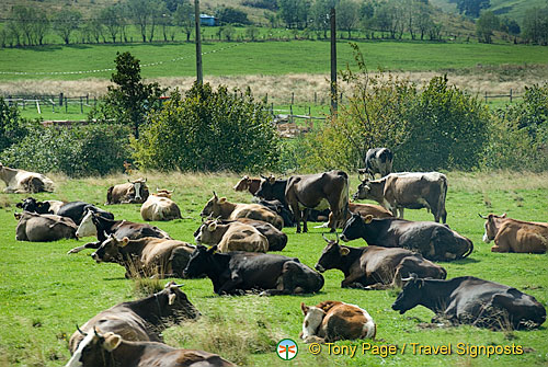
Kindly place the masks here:
<instances>
[{"instance_id":1,"label":"low wide green bush at far left, below the dark tree","mask_svg":"<svg viewBox=\"0 0 548 367\"><path fill-rule=\"evenodd\" d=\"M69 176L122 172L129 157L129 128L88 125L78 128L34 126L0 156L5 165Z\"/></svg>"}]
</instances>

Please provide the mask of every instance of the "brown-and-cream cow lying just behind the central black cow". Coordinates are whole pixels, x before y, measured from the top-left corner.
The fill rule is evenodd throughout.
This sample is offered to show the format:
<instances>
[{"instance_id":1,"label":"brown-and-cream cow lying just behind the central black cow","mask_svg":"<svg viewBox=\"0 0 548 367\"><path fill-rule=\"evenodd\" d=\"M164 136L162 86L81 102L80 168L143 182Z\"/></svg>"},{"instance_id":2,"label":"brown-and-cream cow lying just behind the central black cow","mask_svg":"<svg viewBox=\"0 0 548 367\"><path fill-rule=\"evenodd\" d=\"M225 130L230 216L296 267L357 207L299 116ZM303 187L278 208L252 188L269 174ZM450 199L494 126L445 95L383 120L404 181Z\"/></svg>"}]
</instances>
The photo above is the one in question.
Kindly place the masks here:
<instances>
[{"instance_id":1,"label":"brown-and-cream cow lying just behind the central black cow","mask_svg":"<svg viewBox=\"0 0 548 367\"><path fill-rule=\"evenodd\" d=\"M194 238L197 244L218 245L220 252L269 251L269 240L256 228L241 221L218 223L217 220L207 220L198 229Z\"/></svg>"}]
</instances>

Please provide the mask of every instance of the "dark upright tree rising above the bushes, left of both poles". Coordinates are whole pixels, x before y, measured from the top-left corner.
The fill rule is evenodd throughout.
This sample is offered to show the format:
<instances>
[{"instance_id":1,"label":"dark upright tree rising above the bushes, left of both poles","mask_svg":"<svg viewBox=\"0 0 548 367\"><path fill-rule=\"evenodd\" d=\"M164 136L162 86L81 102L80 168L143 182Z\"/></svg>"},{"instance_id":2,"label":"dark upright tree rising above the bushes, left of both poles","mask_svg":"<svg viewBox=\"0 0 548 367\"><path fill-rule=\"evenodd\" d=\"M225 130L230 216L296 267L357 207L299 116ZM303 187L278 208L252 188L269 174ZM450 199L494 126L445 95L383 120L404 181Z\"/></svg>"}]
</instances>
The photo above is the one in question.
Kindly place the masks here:
<instances>
[{"instance_id":1,"label":"dark upright tree rising above the bushes, left of both poles","mask_svg":"<svg viewBox=\"0 0 548 367\"><path fill-rule=\"evenodd\" d=\"M146 114L161 106L160 96L164 92L158 83L142 83L139 60L129 53L116 54L116 72L111 81L116 87L109 87L109 92L99 108L92 111L91 118L107 122L114 119L134 128L139 137L139 127Z\"/></svg>"}]
</instances>

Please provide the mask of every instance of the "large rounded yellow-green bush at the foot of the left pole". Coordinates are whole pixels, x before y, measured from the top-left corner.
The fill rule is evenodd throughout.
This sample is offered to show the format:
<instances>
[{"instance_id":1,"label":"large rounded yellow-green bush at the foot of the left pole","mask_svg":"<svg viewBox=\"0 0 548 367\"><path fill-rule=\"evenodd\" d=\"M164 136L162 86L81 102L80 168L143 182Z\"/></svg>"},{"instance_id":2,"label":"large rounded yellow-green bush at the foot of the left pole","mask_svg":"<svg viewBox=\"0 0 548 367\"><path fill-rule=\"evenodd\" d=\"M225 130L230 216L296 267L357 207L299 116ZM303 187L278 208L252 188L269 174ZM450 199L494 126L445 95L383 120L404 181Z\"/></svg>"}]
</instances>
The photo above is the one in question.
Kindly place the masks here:
<instances>
[{"instance_id":1,"label":"large rounded yellow-green bush at the foot of the left pole","mask_svg":"<svg viewBox=\"0 0 548 367\"><path fill-rule=\"evenodd\" d=\"M275 167L278 142L264 104L249 90L195 83L150 114L132 146L146 169L256 172Z\"/></svg>"}]
</instances>

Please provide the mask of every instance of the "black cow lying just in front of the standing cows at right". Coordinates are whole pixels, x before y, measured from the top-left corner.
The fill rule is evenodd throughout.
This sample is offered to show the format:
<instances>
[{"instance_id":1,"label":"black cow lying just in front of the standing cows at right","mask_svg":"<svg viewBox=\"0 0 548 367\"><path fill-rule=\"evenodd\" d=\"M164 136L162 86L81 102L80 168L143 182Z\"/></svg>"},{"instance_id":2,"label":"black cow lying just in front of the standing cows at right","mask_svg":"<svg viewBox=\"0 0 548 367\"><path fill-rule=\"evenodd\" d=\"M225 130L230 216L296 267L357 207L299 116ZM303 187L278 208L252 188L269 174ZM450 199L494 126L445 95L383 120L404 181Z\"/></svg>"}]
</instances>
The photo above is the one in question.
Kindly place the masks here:
<instances>
[{"instance_id":1,"label":"black cow lying just in front of the standing cows at right","mask_svg":"<svg viewBox=\"0 0 548 367\"><path fill-rule=\"evenodd\" d=\"M427 260L453 261L468 256L473 243L445 225L398 218L362 218L353 214L346 221L341 240L363 238L369 245L403 248L419 252Z\"/></svg>"}]
</instances>

